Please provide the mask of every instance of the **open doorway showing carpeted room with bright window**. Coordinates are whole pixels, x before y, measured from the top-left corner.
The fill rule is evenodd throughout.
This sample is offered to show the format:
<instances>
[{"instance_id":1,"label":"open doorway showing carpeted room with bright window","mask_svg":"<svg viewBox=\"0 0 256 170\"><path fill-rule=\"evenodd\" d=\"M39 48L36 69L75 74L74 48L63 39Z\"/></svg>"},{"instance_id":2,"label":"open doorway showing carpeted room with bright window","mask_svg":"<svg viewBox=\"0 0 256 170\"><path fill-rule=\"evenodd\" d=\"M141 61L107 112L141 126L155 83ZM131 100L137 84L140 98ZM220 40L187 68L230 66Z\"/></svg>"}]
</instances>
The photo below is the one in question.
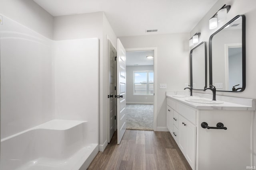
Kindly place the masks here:
<instances>
[{"instance_id":1,"label":"open doorway showing carpeted room with bright window","mask_svg":"<svg viewBox=\"0 0 256 170\"><path fill-rule=\"evenodd\" d=\"M126 129L156 130L156 48L126 49L126 75Z\"/></svg>"}]
</instances>

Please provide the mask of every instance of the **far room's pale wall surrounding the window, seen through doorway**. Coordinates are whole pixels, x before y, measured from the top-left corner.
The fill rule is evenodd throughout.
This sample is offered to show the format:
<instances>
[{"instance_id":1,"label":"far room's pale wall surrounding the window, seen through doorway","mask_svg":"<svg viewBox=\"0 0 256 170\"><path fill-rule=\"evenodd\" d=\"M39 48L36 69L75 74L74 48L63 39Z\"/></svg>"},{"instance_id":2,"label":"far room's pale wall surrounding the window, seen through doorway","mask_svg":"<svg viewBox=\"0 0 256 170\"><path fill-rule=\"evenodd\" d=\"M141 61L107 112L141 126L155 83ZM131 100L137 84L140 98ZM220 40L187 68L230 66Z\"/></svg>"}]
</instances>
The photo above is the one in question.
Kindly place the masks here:
<instances>
[{"instance_id":1,"label":"far room's pale wall surrounding the window, seen through doorway","mask_svg":"<svg viewBox=\"0 0 256 170\"><path fill-rule=\"evenodd\" d=\"M126 66L126 103L149 104L154 103L154 96L133 95L133 72L134 71L153 71L154 66Z\"/></svg>"}]
</instances>

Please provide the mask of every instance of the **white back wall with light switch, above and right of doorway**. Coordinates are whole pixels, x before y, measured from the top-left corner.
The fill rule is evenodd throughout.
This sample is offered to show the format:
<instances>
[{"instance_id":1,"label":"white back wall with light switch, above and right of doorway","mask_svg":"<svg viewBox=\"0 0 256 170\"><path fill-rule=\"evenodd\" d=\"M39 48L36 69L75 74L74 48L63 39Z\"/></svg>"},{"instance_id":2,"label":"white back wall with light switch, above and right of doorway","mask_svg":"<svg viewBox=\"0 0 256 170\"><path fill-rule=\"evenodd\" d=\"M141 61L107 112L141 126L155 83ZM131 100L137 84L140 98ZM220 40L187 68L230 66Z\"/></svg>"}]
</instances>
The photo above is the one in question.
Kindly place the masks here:
<instances>
[{"instance_id":1,"label":"white back wall with light switch, above and right of doorway","mask_svg":"<svg viewBox=\"0 0 256 170\"><path fill-rule=\"evenodd\" d=\"M125 48L157 47L157 127L166 127L166 91L189 82L189 33L119 37ZM167 89L159 89L166 83Z\"/></svg>"}]
</instances>

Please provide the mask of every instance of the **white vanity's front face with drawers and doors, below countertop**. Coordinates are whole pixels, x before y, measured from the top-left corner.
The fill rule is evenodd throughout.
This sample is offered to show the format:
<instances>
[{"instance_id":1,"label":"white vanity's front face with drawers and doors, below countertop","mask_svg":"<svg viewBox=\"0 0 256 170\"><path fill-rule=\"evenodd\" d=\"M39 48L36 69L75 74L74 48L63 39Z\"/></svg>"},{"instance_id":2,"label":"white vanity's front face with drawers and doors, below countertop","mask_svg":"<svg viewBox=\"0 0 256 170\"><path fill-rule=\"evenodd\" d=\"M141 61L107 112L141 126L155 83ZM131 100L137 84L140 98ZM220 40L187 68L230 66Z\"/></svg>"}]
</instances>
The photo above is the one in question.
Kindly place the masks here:
<instances>
[{"instance_id":1,"label":"white vanity's front face with drawers and doors, below countertop","mask_svg":"<svg viewBox=\"0 0 256 170\"><path fill-rule=\"evenodd\" d=\"M167 98L166 116L168 130L188 160L191 168L195 170L196 125L193 123L195 123L196 111L184 105L177 104L174 100ZM186 117L190 120L186 119ZM190 122L191 119L193 123Z\"/></svg>"}]
</instances>

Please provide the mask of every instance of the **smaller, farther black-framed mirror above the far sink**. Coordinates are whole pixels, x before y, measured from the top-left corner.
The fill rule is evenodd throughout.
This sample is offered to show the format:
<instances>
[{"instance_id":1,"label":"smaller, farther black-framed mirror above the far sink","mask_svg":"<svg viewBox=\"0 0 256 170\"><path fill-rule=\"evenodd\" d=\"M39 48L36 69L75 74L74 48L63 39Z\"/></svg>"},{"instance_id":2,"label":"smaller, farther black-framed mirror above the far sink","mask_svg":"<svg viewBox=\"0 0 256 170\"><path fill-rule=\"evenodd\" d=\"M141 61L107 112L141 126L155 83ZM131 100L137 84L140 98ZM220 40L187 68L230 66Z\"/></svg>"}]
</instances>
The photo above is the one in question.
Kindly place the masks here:
<instances>
[{"instance_id":1,"label":"smaller, farther black-framed mirror above the far sink","mask_svg":"<svg viewBox=\"0 0 256 170\"><path fill-rule=\"evenodd\" d=\"M190 51L190 85L194 90L207 87L207 51L206 42L202 42Z\"/></svg>"}]
</instances>

